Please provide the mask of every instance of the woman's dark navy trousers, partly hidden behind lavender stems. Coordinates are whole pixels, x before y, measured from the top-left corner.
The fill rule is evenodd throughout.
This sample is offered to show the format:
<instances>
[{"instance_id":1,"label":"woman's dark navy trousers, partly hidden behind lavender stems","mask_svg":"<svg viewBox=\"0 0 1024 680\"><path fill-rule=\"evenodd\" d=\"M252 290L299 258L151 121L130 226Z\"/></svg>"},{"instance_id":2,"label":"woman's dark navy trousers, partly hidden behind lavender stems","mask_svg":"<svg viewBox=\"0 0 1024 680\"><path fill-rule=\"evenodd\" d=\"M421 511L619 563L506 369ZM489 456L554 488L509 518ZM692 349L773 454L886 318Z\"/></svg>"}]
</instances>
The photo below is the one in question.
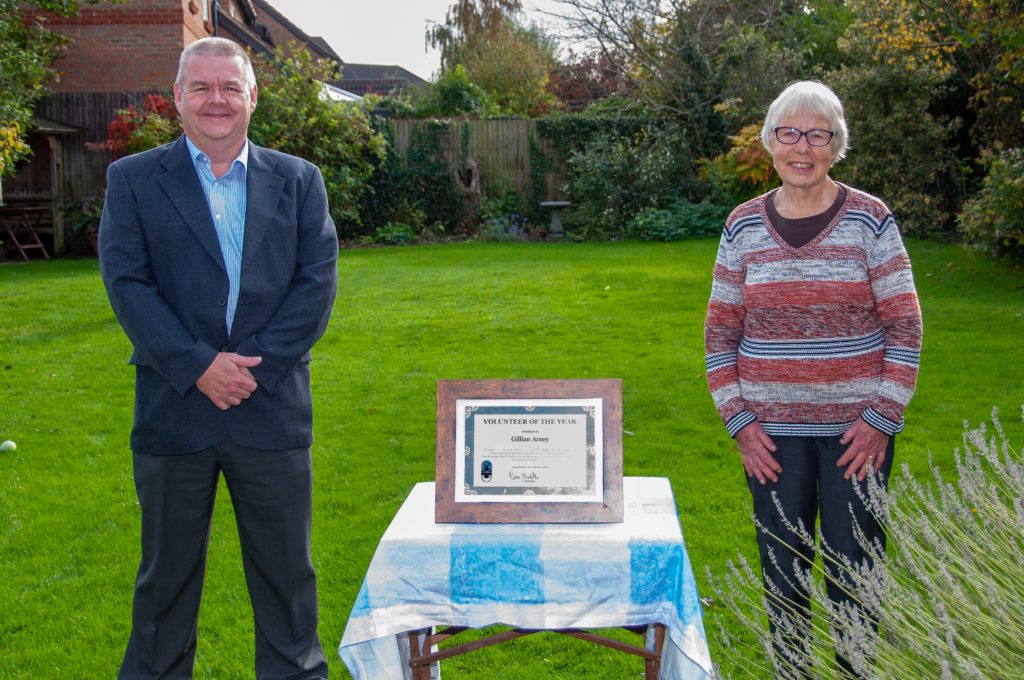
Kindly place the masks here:
<instances>
[{"instance_id":1,"label":"woman's dark navy trousers, partly hidden behind lavender stems","mask_svg":"<svg viewBox=\"0 0 1024 680\"><path fill-rule=\"evenodd\" d=\"M803 522L813 536L815 521L820 519L818 530L829 554L846 556L854 564L864 562L868 555L861 547L854 532L859 527L869 541L878 541L885 546L885 533L876 518L867 511L854 491L854 483L843 475L846 467L837 467L836 461L847 449L840 443L840 437L786 437L773 436L777 447L775 459L782 466L778 481L761 484L756 477L748 477L748 485L754 499L754 515L763 529L758 529L758 549L761 553L761 568L764 573L767 601L772 615L772 633L776 632L775 621L783 611L791 613L787 619L796 631L794 635L783 635L784 649L776 647L776 655L786 658L786 666L801 667L807 663L802 658L800 636L810 631L811 605L809 595L794 577L794 560L800 568L809 570L814 561L815 547L802 542L785 522L798 525ZM892 470L895 439L889 439L886 460L880 472L889 479ZM861 493L867 495L867 479L857 482ZM779 513L772 494L778 498ZM852 511L851 511L852 508ZM784 517L784 520L783 520ZM771 553L775 559L772 560ZM830 562L826 559L825 566ZM828 599L841 603L850 601L849 596L831 580L826 581ZM801 632L803 631L803 632ZM778 660L777 660L778 661ZM850 671L849 664L842 656L837 662Z\"/></svg>"}]
</instances>

